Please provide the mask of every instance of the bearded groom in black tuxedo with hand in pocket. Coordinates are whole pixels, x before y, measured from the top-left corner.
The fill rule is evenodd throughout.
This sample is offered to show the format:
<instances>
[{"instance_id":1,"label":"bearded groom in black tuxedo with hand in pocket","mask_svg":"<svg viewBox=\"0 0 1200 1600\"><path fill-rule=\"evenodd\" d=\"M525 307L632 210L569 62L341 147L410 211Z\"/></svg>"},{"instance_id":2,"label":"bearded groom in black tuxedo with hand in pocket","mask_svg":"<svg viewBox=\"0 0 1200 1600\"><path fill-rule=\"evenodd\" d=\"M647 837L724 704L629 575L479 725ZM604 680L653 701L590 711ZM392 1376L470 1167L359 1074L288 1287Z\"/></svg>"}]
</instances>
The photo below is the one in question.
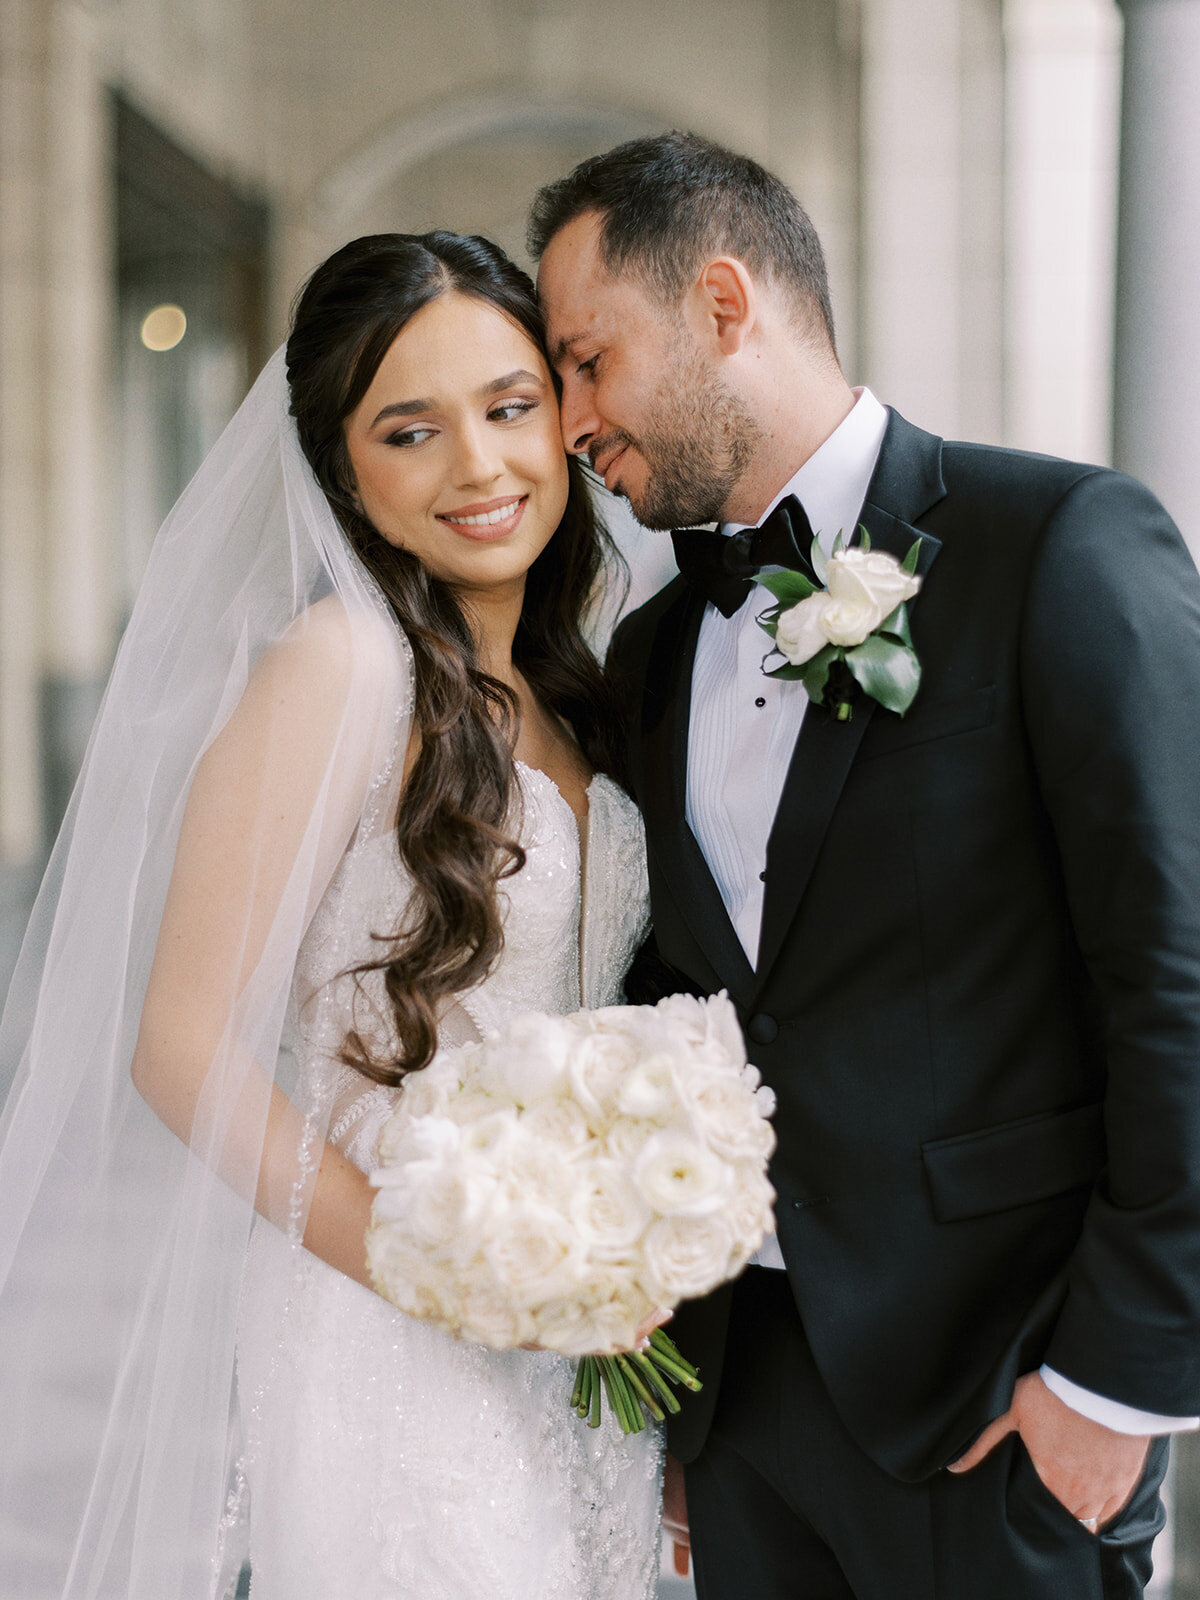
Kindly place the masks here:
<instances>
[{"instance_id":1,"label":"bearded groom in black tuxedo with hand in pocket","mask_svg":"<svg viewBox=\"0 0 1200 1600\"><path fill-rule=\"evenodd\" d=\"M779 1102L778 1242L675 1323L699 1595L1139 1595L1200 1413L1195 568L1130 478L850 389L754 162L634 141L531 245L568 450L651 528L765 523L677 531L613 645L656 958ZM917 546L904 717L762 670L747 574L859 525Z\"/></svg>"}]
</instances>

